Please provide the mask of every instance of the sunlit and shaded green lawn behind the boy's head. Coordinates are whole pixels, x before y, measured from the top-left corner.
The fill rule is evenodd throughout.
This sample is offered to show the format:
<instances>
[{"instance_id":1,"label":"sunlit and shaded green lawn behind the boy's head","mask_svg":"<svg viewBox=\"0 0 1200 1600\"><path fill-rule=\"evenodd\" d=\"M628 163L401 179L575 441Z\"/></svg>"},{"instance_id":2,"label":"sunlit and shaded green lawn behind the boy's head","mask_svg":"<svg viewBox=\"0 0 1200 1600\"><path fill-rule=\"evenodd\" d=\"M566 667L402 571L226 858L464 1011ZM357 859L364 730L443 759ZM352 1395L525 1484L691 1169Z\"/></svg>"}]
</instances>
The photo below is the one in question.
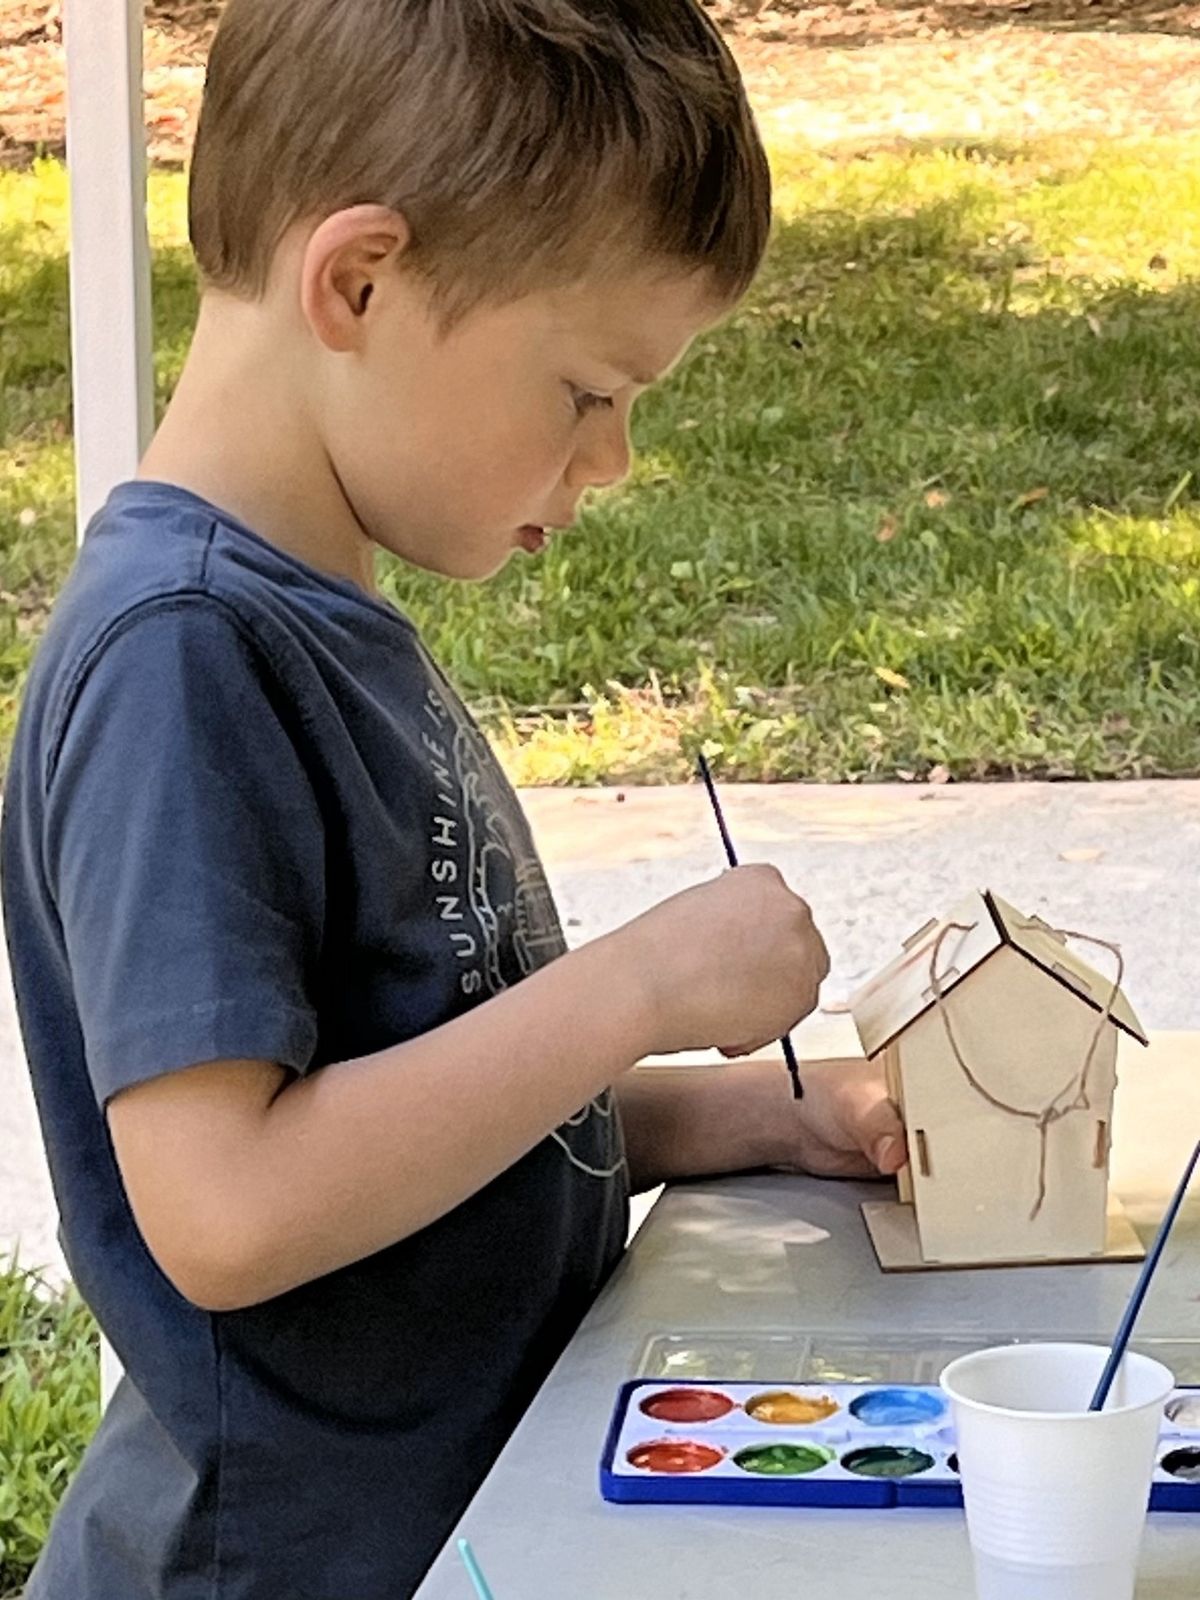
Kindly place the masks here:
<instances>
[{"instance_id":1,"label":"sunlit and shaded green lawn behind the boy's head","mask_svg":"<svg viewBox=\"0 0 1200 1600\"><path fill-rule=\"evenodd\" d=\"M632 482L482 587L384 566L531 782L1200 770L1200 136L779 150ZM194 290L152 184L158 387ZM70 558L62 174L0 174L0 733ZM34 518L30 523L30 517Z\"/></svg>"}]
</instances>

